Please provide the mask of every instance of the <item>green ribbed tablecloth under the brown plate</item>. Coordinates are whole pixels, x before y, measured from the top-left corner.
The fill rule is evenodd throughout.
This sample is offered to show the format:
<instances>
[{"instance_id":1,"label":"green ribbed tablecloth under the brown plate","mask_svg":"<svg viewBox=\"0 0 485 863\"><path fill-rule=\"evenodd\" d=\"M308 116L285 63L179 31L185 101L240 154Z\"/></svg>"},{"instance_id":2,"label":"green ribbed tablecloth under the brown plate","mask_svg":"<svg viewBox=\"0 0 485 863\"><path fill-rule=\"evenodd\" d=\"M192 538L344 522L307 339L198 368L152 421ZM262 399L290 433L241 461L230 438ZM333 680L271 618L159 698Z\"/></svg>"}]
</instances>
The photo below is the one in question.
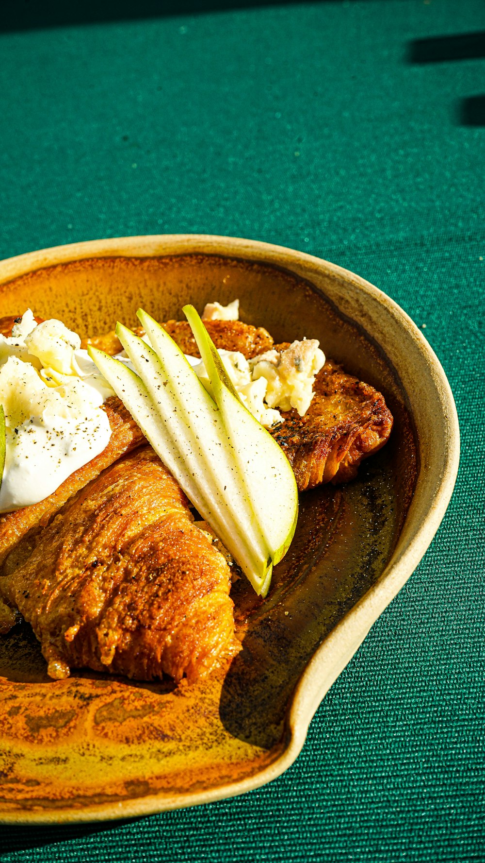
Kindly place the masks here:
<instances>
[{"instance_id":1,"label":"green ribbed tablecloth under the brown plate","mask_svg":"<svg viewBox=\"0 0 485 863\"><path fill-rule=\"evenodd\" d=\"M2 257L186 231L323 256L426 325L463 435L432 547L288 772L136 822L2 828L2 860L485 860L485 52L442 38L483 11L360 0L0 33Z\"/></svg>"}]
</instances>

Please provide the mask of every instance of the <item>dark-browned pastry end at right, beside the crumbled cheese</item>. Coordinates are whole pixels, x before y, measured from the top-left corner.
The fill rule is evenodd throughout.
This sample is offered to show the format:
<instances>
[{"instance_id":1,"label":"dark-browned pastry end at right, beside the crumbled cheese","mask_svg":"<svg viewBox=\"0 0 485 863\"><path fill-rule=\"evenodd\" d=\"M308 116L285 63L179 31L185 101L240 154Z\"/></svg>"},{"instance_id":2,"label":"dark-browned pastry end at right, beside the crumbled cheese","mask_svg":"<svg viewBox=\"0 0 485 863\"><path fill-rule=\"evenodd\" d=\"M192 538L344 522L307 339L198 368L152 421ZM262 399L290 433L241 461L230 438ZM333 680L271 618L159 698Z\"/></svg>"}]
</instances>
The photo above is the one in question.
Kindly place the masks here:
<instances>
[{"instance_id":1,"label":"dark-browned pastry end at right, beside the crumbled cheese","mask_svg":"<svg viewBox=\"0 0 485 863\"><path fill-rule=\"evenodd\" d=\"M321 482L347 482L364 458L389 438L393 418L380 393L326 361L315 378L307 413L282 412L271 429L294 470L299 491Z\"/></svg>"}]
</instances>

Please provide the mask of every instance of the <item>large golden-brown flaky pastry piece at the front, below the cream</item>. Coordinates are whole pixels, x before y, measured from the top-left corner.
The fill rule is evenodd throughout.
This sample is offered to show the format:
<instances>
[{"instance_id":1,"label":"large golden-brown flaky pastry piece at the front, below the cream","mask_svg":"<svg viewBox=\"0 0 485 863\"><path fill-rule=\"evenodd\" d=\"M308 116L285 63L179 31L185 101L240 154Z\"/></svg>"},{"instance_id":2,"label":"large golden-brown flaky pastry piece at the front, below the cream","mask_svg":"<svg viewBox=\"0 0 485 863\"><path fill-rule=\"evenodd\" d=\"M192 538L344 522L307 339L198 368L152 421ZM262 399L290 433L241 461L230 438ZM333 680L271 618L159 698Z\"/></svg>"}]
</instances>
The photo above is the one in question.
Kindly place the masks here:
<instances>
[{"instance_id":1,"label":"large golden-brown flaky pastry piece at the front, below the cream","mask_svg":"<svg viewBox=\"0 0 485 863\"><path fill-rule=\"evenodd\" d=\"M22 540L4 571L3 596L32 625L51 677L88 666L194 681L233 649L229 567L149 446Z\"/></svg>"}]
</instances>

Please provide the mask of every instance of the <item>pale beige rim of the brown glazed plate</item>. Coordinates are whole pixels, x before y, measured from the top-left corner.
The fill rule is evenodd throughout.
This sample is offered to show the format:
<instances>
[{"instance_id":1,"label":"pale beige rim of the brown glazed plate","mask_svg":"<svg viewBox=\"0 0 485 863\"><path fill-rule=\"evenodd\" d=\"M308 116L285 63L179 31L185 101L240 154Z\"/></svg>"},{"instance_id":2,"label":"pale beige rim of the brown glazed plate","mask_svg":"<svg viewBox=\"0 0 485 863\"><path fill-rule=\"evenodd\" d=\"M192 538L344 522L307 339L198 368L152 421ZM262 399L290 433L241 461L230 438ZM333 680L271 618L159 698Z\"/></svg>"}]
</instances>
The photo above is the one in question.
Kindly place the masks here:
<instances>
[{"instance_id":1,"label":"pale beige rim of the brown glazed plate","mask_svg":"<svg viewBox=\"0 0 485 863\"><path fill-rule=\"evenodd\" d=\"M457 408L445 371L431 345L407 315L407 312L388 294L351 270L316 255L308 255L306 252L289 249L276 243L211 234L153 234L88 240L16 255L0 261L0 285L41 268L70 261L81 261L86 258L157 257L197 253L237 256L246 258L246 260L277 264L280 268L283 266L298 275L300 274L298 269L295 271L295 265L298 266L299 264L306 265L310 269L320 270L320 272L323 269L335 277L351 281L355 287L371 299L376 300L380 306L386 307L390 316L395 318L398 324L401 324L420 350L443 409L443 418L445 419L443 458L430 507L420 526L411 531L412 535L406 543L402 543L401 537L403 532L406 532L406 524L409 521L409 512L407 513L395 552L381 576L352 606L314 652L296 683L289 702L287 745L283 746L283 751L277 759L262 771L217 788L183 795L165 796L161 794L134 797L119 803L102 803L92 806L88 804L82 810L69 809L68 807L65 809L43 809L41 812L38 809L31 809L30 811L6 810L3 813L0 812L0 823L20 826L22 824L95 822L147 816L165 810L182 809L235 797L260 788L280 776L293 764L302 751L310 721L326 692L358 650L365 636L369 633L370 627L388 607L420 563L432 538L438 531L438 526L443 520L450 502L457 478L460 433ZM401 548L401 545L405 545L405 547Z\"/></svg>"}]
</instances>

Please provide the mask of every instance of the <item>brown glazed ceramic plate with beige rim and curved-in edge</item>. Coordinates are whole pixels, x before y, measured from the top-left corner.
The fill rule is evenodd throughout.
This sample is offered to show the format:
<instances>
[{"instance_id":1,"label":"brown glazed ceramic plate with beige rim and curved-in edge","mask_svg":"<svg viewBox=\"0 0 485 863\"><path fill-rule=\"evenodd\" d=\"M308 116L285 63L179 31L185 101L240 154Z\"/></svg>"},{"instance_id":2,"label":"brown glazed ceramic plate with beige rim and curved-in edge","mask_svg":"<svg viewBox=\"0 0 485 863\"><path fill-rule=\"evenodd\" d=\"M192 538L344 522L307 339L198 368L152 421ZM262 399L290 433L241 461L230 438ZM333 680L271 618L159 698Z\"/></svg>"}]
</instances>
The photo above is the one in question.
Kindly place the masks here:
<instances>
[{"instance_id":1,"label":"brown glazed ceramic plate with beige rim and curved-in edge","mask_svg":"<svg viewBox=\"0 0 485 863\"><path fill-rule=\"evenodd\" d=\"M311 255L218 236L96 240L0 264L0 315L30 307L81 336L239 297L275 341L320 339L381 390L389 444L347 485L301 495L295 541L261 602L233 588L242 650L193 686L79 671L47 677L27 625L0 636L0 821L147 815L250 791L301 751L326 691L438 529L459 432L438 359L368 282Z\"/></svg>"}]
</instances>

